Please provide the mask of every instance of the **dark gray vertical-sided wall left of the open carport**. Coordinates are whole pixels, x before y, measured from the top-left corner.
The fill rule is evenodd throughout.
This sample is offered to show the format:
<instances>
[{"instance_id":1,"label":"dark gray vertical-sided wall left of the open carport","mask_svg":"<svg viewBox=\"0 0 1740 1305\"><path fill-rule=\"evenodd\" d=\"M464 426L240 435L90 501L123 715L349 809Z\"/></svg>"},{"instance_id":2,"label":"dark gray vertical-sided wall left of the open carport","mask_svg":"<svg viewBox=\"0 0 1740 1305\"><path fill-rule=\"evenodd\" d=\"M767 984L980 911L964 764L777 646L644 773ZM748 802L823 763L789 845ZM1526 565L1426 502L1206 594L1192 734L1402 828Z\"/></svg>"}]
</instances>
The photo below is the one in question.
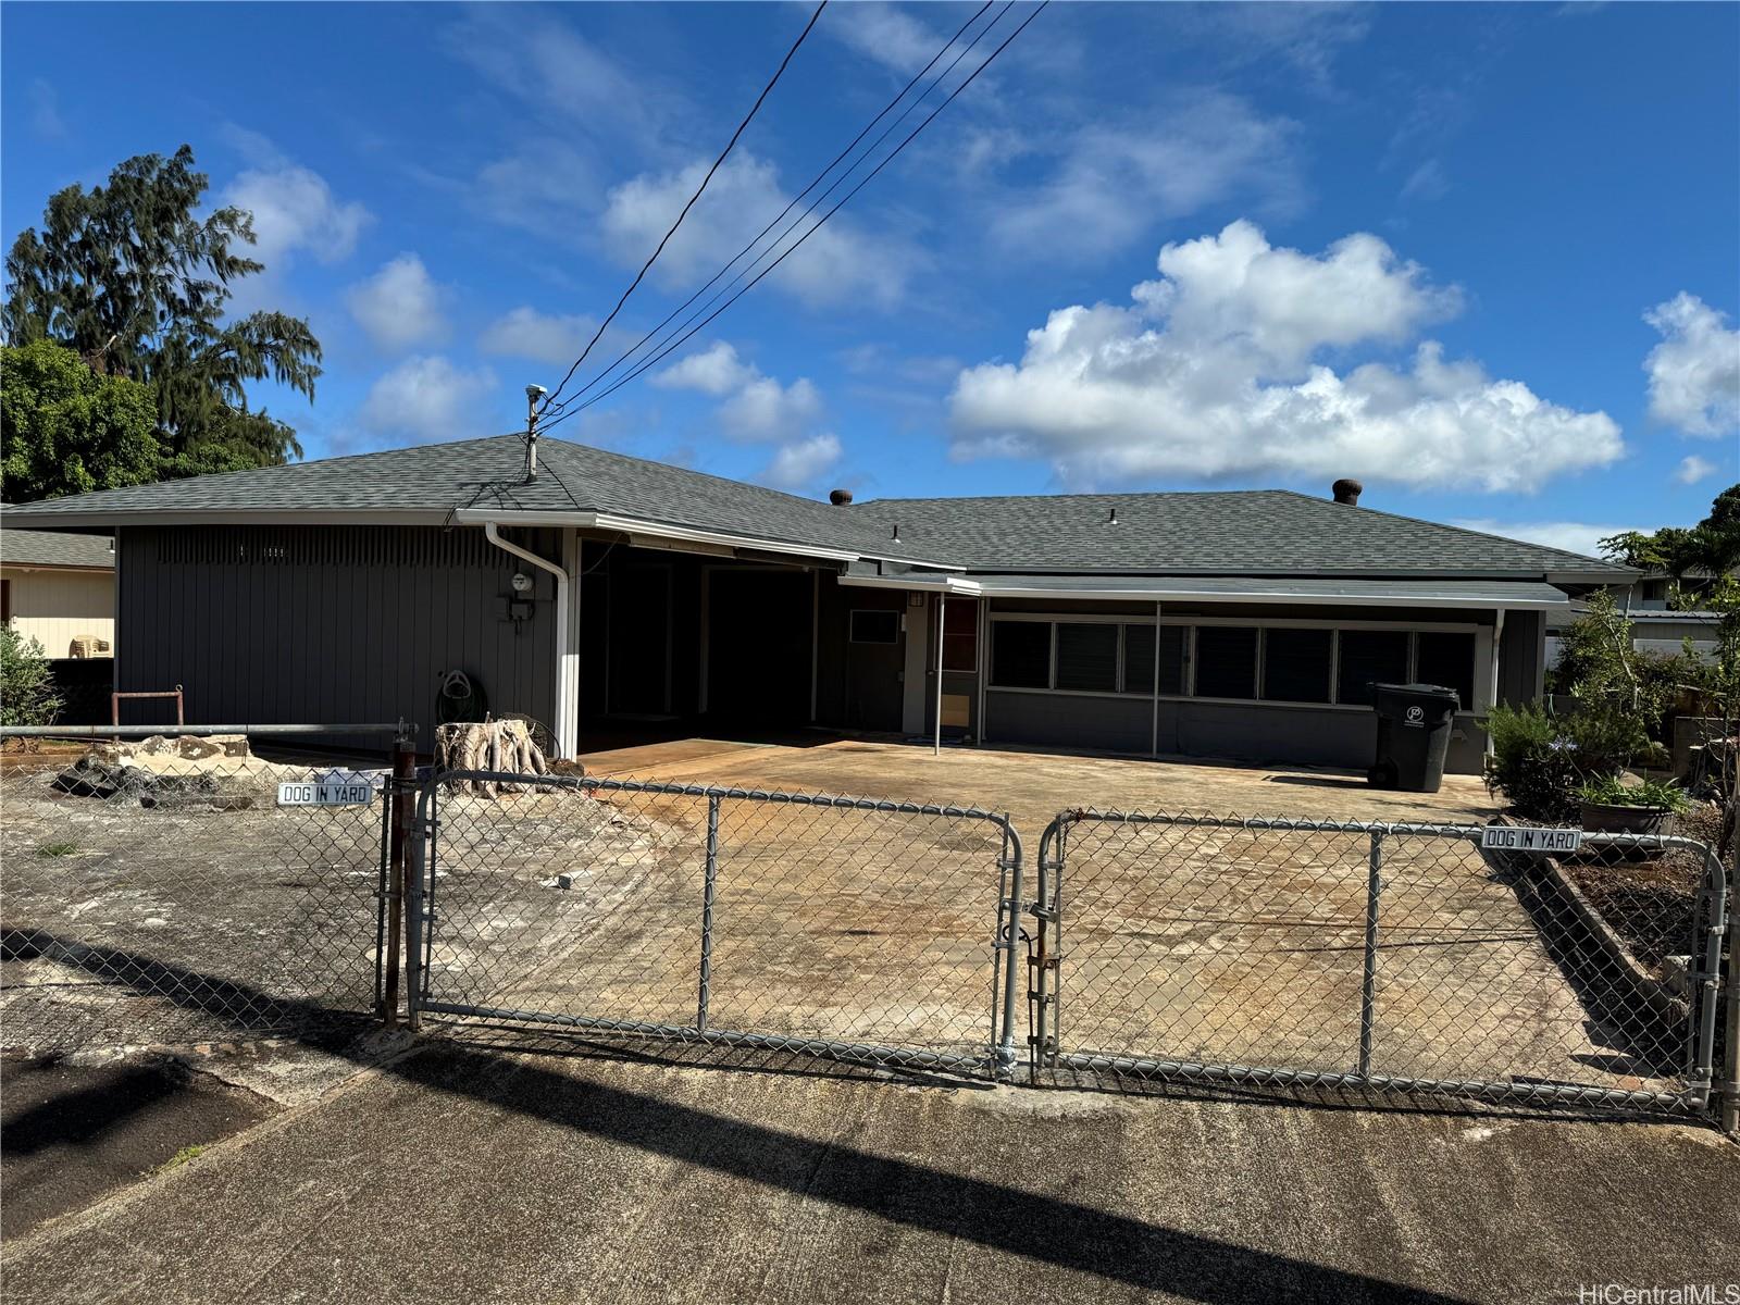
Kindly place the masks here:
<instances>
[{"instance_id":1,"label":"dark gray vertical-sided wall left of the open carport","mask_svg":"<svg viewBox=\"0 0 1740 1305\"><path fill-rule=\"evenodd\" d=\"M559 557L553 531L515 541ZM494 712L555 722L555 579L475 527L122 531L125 691L186 693L190 722L414 720L430 746L440 672ZM506 619L515 571L534 614ZM139 719L146 717L143 710Z\"/></svg>"}]
</instances>

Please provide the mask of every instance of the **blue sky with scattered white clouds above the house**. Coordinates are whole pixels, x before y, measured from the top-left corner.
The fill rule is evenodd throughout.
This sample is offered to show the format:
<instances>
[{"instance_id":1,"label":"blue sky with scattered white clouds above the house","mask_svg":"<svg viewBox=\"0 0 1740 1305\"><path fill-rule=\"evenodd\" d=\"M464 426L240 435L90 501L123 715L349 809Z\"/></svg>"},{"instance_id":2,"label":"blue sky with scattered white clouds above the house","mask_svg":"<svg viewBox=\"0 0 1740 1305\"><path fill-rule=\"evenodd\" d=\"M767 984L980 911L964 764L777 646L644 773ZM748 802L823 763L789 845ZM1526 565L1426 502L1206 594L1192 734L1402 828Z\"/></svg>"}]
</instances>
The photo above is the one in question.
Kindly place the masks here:
<instances>
[{"instance_id":1,"label":"blue sky with scattered white clouds above the house","mask_svg":"<svg viewBox=\"0 0 1740 1305\"><path fill-rule=\"evenodd\" d=\"M830 5L579 379L974 9ZM7 3L5 237L190 143L256 214L268 271L238 304L325 345L313 405L261 395L308 456L508 432L806 17ZM1578 548L1691 522L1740 478L1737 54L1717 3L1053 3L804 249L557 433L811 494L1355 475L1375 506Z\"/></svg>"}]
</instances>

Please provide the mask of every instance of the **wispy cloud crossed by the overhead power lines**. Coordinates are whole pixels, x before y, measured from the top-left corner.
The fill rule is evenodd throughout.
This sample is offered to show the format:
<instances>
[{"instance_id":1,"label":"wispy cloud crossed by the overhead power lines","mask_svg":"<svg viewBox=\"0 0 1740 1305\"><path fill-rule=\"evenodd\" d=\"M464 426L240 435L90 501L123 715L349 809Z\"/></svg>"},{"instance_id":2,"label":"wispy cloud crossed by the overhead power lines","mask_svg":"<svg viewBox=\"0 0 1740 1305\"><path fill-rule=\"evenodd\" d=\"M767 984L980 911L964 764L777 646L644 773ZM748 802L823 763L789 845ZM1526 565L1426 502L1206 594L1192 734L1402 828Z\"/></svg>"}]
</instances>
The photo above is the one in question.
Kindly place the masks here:
<instances>
[{"instance_id":1,"label":"wispy cloud crossed by the overhead power lines","mask_svg":"<svg viewBox=\"0 0 1740 1305\"><path fill-rule=\"evenodd\" d=\"M698 160L675 172L644 172L614 186L600 218L611 256L625 266L639 268L682 212L684 202L701 184L706 169L708 164ZM773 221L786 207L788 198L773 164L748 153L734 153L713 176L677 235L665 245L652 275L666 285L699 284ZM828 204L837 198L839 195L832 197ZM774 226L767 240L785 231L807 204L809 200L795 207ZM800 223L780 247L792 247L823 212L826 205ZM757 252L764 247L766 240ZM750 254L740 261L731 275L748 266L753 258L755 254ZM766 270L773 258L776 256L745 275L740 287ZM867 235L835 218L804 240L804 245L781 263L767 282L811 306L870 301L889 308L900 301L919 261L919 254L903 242ZM724 289L727 280L729 277L720 280L708 294Z\"/></svg>"}]
</instances>

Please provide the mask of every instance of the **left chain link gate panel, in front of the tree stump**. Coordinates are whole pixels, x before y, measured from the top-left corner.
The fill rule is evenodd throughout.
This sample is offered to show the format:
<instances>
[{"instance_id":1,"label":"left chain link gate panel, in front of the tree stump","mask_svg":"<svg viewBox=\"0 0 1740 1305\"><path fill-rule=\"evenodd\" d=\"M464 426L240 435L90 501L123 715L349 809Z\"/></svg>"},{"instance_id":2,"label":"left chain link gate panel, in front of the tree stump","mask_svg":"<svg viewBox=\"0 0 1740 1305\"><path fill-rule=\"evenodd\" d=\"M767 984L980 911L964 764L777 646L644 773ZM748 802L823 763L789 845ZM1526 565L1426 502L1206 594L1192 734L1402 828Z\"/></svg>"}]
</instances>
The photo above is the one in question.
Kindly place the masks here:
<instances>
[{"instance_id":1,"label":"left chain link gate panel, in front of the tree stump","mask_svg":"<svg viewBox=\"0 0 1740 1305\"><path fill-rule=\"evenodd\" d=\"M1021 840L971 807L452 771L412 835L412 1021L1006 1077Z\"/></svg>"}]
</instances>

